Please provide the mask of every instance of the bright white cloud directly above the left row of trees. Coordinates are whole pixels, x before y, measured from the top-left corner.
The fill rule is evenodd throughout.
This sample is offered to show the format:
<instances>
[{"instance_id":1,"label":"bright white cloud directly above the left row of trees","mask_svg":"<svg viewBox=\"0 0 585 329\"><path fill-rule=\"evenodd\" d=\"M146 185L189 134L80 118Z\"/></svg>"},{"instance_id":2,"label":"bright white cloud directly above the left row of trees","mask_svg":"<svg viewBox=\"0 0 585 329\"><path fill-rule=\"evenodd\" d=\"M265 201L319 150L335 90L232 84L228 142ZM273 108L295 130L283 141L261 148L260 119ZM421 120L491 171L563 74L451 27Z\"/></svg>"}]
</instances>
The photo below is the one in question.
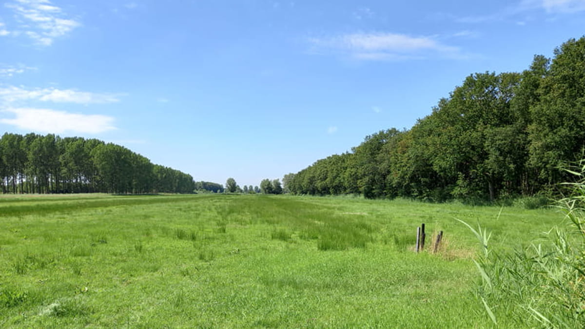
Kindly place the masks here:
<instances>
[{"instance_id":1,"label":"bright white cloud directly above the left row of trees","mask_svg":"<svg viewBox=\"0 0 585 329\"><path fill-rule=\"evenodd\" d=\"M49 133L101 133L116 129L114 119L105 115L76 114L53 109L8 108L0 112L11 113L15 118L0 119L2 124L19 129Z\"/></svg>"}]
</instances>

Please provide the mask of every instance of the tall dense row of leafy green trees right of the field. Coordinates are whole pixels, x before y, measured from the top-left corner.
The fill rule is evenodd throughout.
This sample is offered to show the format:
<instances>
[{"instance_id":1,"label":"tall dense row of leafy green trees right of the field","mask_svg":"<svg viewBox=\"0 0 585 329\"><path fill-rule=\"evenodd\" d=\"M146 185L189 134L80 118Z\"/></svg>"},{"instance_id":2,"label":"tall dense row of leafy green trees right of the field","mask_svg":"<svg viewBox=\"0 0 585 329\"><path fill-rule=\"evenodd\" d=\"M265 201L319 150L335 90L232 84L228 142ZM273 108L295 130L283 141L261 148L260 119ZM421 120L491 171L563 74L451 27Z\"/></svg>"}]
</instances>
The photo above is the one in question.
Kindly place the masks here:
<instances>
[{"instance_id":1,"label":"tall dense row of leafy green trees right of the field","mask_svg":"<svg viewBox=\"0 0 585 329\"><path fill-rule=\"evenodd\" d=\"M367 136L351 152L284 177L295 194L367 198L534 196L583 157L585 37L534 56L522 73L476 73L411 129Z\"/></svg>"}]
</instances>

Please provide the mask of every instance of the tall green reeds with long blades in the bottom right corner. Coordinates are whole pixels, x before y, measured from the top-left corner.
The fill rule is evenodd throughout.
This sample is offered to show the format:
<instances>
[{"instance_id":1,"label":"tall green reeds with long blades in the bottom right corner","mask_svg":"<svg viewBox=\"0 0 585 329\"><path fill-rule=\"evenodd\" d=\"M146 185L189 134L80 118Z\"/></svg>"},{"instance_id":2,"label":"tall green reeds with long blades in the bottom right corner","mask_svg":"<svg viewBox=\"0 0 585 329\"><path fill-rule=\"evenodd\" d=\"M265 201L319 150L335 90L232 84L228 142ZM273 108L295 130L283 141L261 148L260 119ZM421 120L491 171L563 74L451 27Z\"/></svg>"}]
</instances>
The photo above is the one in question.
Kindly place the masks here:
<instances>
[{"instance_id":1,"label":"tall green reeds with long blades in the bottom right corner","mask_svg":"<svg viewBox=\"0 0 585 329\"><path fill-rule=\"evenodd\" d=\"M568 221L543 232L528 248L490 253L486 230L464 223L481 241L476 294L495 324L585 326L585 160L566 171L575 181L564 184L569 193L557 207Z\"/></svg>"}]
</instances>

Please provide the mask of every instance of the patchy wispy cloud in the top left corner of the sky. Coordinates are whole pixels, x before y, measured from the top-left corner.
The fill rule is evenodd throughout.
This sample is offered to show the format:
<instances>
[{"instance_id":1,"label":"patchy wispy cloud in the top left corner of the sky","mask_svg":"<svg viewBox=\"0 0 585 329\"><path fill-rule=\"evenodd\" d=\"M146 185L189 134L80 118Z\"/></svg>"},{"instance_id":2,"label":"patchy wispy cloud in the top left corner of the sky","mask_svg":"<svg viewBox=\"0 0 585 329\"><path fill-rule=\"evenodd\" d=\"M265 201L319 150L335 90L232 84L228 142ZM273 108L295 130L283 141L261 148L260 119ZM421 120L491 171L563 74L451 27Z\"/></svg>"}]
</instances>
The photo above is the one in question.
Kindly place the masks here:
<instances>
[{"instance_id":1,"label":"patchy wispy cloud in the top left corner of the sky","mask_svg":"<svg viewBox=\"0 0 585 329\"><path fill-rule=\"evenodd\" d=\"M81 26L49 0L16 0L5 6L15 13L18 28L4 33L28 36L41 46L50 46L57 37Z\"/></svg>"}]
</instances>

